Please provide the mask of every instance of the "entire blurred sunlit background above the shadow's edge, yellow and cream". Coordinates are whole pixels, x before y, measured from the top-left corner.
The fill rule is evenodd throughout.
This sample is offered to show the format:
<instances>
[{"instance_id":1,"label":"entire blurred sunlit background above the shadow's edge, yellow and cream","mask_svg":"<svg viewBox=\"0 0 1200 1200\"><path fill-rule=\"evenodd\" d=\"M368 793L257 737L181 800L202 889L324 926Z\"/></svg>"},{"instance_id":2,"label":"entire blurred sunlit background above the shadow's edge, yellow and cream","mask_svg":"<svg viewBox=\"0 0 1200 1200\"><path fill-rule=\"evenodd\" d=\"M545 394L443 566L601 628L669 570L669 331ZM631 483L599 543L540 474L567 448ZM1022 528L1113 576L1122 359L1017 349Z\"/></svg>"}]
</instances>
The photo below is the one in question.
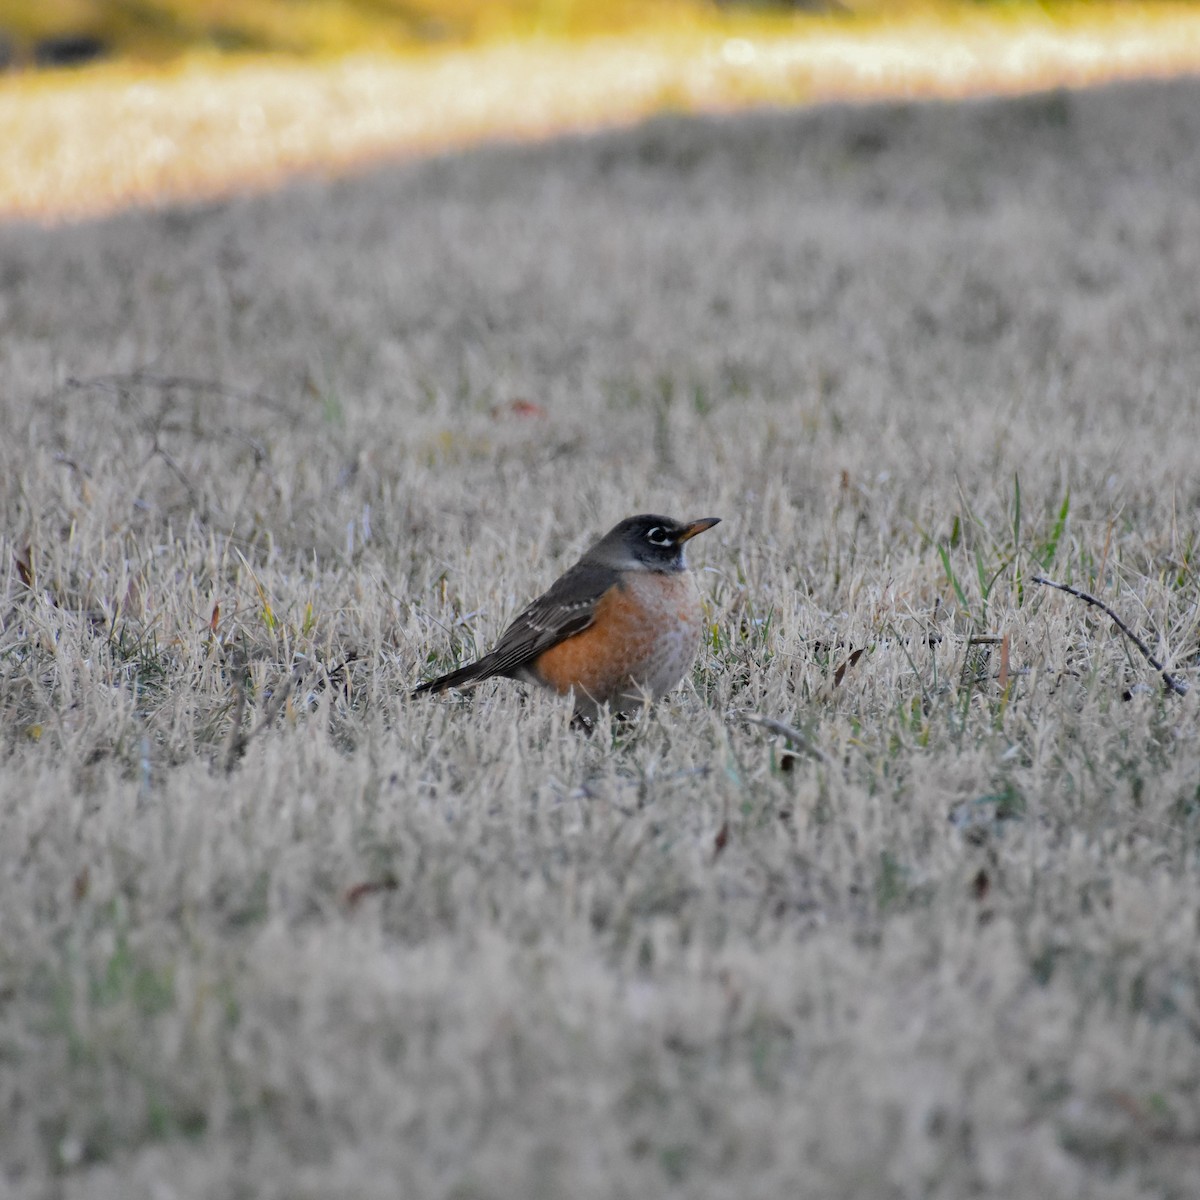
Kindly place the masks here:
<instances>
[{"instance_id":1,"label":"entire blurred sunlit background above the shadow's edge, yellow and cream","mask_svg":"<svg viewBox=\"0 0 1200 1200\"><path fill-rule=\"evenodd\" d=\"M1200 71L1182 0L0 0L0 217L664 113Z\"/></svg>"}]
</instances>

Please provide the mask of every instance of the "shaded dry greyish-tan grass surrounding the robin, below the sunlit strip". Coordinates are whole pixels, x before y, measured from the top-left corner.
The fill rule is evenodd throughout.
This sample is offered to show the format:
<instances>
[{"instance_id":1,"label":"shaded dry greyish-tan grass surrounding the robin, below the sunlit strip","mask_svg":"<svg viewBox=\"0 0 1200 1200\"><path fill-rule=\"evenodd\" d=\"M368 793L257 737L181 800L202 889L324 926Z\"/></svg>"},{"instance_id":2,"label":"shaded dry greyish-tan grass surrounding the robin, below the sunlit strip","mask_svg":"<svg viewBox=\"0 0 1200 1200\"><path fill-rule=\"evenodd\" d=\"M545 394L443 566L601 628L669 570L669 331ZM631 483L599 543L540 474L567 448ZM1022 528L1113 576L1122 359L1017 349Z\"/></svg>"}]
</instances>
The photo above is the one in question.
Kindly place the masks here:
<instances>
[{"instance_id":1,"label":"shaded dry greyish-tan grass surrounding the robin, below the sunlit strip","mask_svg":"<svg viewBox=\"0 0 1200 1200\"><path fill-rule=\"evenodd\" d=\"M1195 680L1198 138L670 118L0 229L5 1190L1190 1196L1200 689L1030 576ZM725 517L688 688L407 697L640 509Z\"/></svg>"}]
</instances>

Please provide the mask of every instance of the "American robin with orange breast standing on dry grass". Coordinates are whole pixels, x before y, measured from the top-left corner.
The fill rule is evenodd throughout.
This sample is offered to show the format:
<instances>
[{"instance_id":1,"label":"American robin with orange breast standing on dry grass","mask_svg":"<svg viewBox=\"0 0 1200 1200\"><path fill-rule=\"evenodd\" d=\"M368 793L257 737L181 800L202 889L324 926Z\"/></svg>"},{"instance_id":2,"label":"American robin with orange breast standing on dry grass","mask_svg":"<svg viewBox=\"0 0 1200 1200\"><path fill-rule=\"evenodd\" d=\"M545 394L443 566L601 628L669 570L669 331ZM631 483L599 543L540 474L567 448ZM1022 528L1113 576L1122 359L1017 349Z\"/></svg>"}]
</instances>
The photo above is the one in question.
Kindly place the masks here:
<instances>
[{"instance_id":1,"label":"American robin with orange breast standing on dry grass","mask_svg":"<svg viewBox=\"0 0 1200 1200\"><path fill-rule=\"evenodd\" d=\"M574 692L575 715L587 719L601 704L631 712L661 696L691 666L703 625L684 542L718 521L626 517L520 613L494 649L413 695L503 676Z\"/></svg>"}]
</instances>

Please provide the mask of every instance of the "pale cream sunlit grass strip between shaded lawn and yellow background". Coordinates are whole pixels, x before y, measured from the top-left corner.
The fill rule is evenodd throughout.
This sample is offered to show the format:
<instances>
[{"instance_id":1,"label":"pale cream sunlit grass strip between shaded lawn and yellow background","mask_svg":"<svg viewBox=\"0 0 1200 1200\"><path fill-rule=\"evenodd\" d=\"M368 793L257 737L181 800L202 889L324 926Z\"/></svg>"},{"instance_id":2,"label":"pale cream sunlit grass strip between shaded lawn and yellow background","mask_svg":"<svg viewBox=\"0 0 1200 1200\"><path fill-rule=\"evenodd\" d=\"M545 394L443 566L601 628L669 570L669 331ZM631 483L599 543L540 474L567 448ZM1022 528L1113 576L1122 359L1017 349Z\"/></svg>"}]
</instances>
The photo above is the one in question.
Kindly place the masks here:
<instances>
[{"instance_id":1,"label":"pale cream sunlit grass strip between shaded lawn and yellow background","mask_svg":"<svg viewBox=\"0 0 1200 1200\"><path fill-rule=\"evenodd\" d=\"M60 218L664 108L964 96L1200 70L1200 12L534 40L331 64L193 61L0 88L0 212Z\"/></svg>"}]
</instances>

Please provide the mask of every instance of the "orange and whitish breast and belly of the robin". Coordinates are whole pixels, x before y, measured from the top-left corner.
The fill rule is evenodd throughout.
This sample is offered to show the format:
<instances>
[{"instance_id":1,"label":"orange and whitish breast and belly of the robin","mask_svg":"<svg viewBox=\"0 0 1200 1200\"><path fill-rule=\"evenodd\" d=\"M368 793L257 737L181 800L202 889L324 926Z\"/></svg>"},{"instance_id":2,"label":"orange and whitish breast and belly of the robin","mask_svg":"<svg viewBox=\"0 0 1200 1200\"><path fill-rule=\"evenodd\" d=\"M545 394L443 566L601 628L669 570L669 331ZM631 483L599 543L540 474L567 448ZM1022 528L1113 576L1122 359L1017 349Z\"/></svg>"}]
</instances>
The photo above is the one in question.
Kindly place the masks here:
<instances>
[{"instance_id":1,"label":"orange and whitish breast and belly of the robin","mask_svg":"<svg viewBox=\"0 0 1200 1200\"><path fill-rule=\"evenodd\" d=\"M577 706L635 708L670 691L691 666L703 613L690 571L638 571L611 588L595 622L533 664L538 679ZM590 704L586 703L589 701Z\"/></svg>"}]
</instances>

